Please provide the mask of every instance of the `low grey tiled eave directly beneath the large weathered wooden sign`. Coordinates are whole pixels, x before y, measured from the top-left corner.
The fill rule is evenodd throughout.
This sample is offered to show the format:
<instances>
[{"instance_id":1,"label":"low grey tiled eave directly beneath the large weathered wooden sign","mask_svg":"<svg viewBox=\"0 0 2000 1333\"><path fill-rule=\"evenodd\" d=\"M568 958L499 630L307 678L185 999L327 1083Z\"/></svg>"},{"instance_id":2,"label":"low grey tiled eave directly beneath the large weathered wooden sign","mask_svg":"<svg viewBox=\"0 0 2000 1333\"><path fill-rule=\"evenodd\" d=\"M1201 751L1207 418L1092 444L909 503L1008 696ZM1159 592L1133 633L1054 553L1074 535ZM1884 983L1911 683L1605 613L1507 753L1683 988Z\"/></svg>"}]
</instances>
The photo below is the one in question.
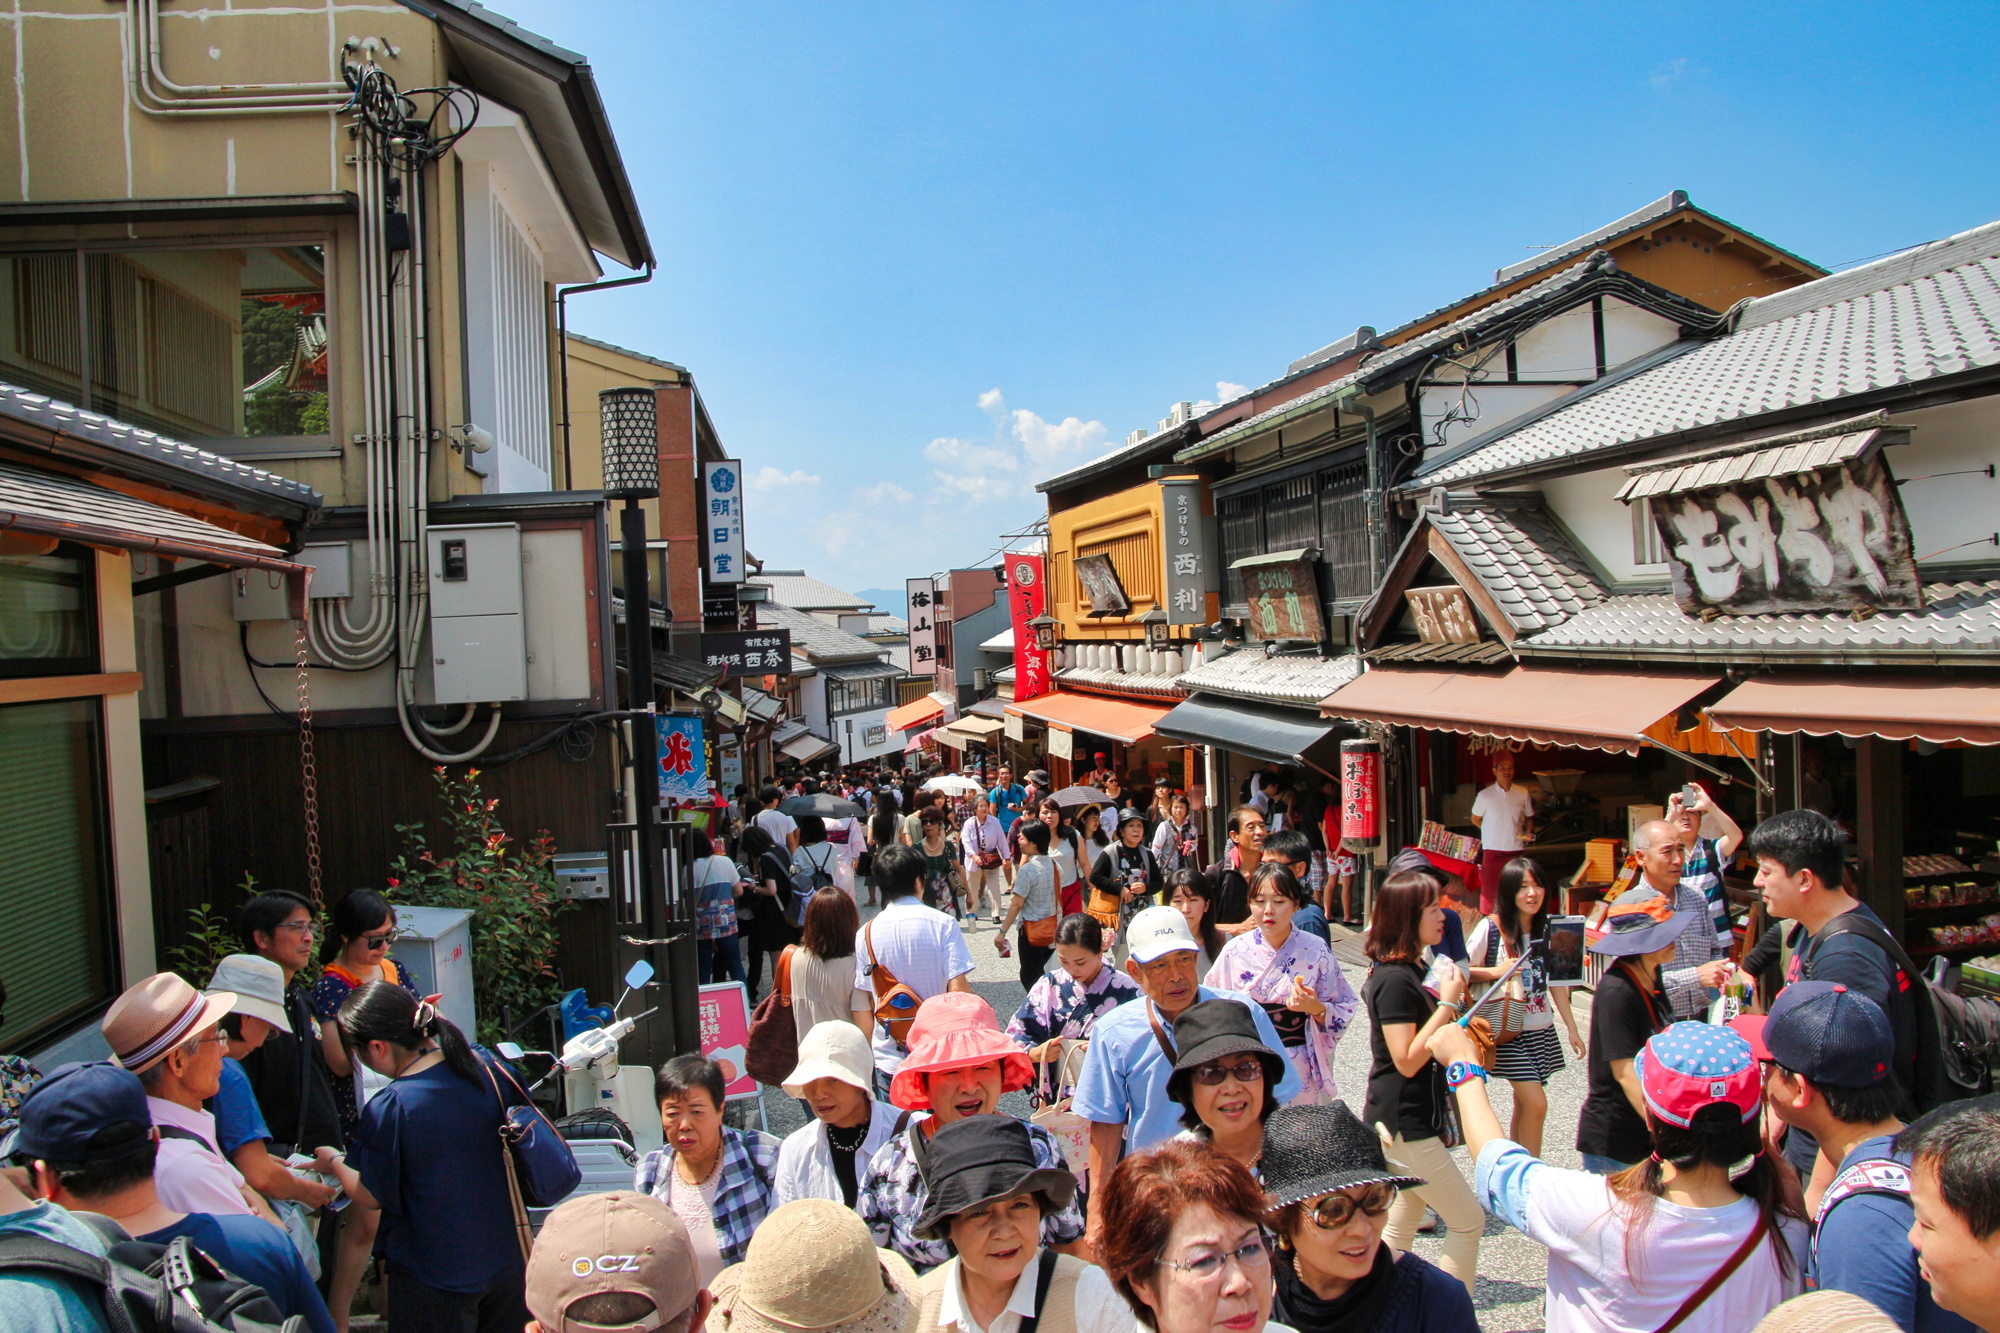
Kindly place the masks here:
<instances>
[{"instance_id":1,"label":"low grey tiled eave directly beneath the large weathered wooden sign","mask_svg":"<svg viewBox=\"0 0 2000 1333\"><path fill-rule=\"evenodd\" d=\"M1616 656L1866 666L2000 662L2000 580L1932 582L1922 610L1756 614L1698 620L1666 592L1610 596L1514 642L1522 658ZM1984 660L1982 660L1984 658Z\"/></svg>"}]
</instances>

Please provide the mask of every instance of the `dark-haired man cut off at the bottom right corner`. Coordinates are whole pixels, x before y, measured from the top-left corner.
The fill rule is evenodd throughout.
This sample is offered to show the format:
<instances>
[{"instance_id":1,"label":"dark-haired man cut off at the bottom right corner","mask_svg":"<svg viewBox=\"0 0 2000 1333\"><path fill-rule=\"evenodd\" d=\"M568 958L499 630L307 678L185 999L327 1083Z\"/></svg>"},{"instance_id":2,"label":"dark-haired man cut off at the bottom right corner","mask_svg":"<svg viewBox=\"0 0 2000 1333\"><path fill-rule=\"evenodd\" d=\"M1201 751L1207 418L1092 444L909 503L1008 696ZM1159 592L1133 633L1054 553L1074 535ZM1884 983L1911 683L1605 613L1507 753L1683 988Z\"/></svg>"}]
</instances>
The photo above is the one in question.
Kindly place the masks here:
<instances>
[{"instance_id":1,"label":"dark-haired man cut off at the bottom right corner","mask_svg":"<svg viewBox=\"0 0 2000 1333\"><path fill-rule=\"evenodd\" d=\"M1954 1101L1894 1143L1910 1159L1910 1245L1930 1297L2000 1329L2000 1097Z\"/></svg>"}]
</instances>

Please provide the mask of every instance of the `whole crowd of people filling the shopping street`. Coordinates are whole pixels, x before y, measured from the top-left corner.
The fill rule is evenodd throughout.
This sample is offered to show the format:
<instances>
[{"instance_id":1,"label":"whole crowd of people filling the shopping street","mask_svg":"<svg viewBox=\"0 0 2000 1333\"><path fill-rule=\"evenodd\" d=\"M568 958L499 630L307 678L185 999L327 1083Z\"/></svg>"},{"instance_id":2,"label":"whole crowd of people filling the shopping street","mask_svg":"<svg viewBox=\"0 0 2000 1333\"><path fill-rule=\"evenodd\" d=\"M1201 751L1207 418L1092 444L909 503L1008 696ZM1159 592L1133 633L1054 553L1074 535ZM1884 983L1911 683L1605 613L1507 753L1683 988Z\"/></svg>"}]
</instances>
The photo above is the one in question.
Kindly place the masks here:
<instances>
[{"instance_id":1,"label":"whole crowd of people filling the shopping street","mask_svg":"<svg viewBox=\"0 0 2000 1333\"><path fill-rule=\"evenodd\" d=\"M1204 867L1182 793L1024 779L832 791L854 817L786 815L814 791L772 787L714 821L702 967L754 995L772 963L810 1119L732 1123L730 1071L670 1059L632 1189L532 1243L500 1147L528 1095L388 957L390 905L356 891L322 927L258 895L204 989L128 989L112 1059L20 1103L0 1327L122 1327L34 1255L130 1237L192 1245L312 1333L346 1329L372 1259L392 1333L1458 1333L1498 1219L1546 1247L1556 1331L2000 1329L2000 1099L1918 1115L1922 983L1822 815L1690 845L1702 811L1676 803L1640 829L1580 1025L1520 849L1470 915L1430 857L1390 859L1356 991L1330 947L1352 867L1310 785L1254 779ZM1732 961L1714 893L1738 851L1790 929ZM1012 1015L972 987L988 921ZM1758 977L1766 1013L1710 1021ZM1368 1077L1340 1087L1356 1021ZM1580 1169L1544 1159L1568 1059Z\"/></svg>"}]
</instances>

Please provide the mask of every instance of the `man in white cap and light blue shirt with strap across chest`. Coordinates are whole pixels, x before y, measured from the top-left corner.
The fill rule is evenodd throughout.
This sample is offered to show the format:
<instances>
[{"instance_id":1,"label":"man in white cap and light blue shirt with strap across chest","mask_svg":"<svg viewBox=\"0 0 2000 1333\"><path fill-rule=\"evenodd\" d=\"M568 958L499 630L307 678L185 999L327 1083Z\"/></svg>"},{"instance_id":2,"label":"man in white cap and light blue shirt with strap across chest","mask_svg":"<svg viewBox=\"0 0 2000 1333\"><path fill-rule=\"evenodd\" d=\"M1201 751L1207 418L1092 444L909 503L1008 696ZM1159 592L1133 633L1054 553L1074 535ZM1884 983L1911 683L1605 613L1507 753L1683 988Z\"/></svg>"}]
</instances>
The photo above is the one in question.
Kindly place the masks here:
<instances>
[{"instance_id":1,"label":"man in white cap and light blue shirt with strap across chest","mask_svg":"<svg viewBox=\"0 0 2000 1333\"><path fill-rule=\"evenodd\" d=\"M1166 1095L1174 1073L1174 1019L1196 1001L1232 999L1250 1011L1258 1037L1282 1049L1270 1015L1236 991L1210 991L1196 981L1200 945L1174 907L1148 907L1126 927L1126 973L1142 995L1100 1017L1090 1031L1084 1073L1070 1109L1090 1121L1090 1179L1108 1181L1126 1153L1142 1153L1180 1133L1180 1103ZM1290 1061L1274 1089L1278 1105L1298 1097ZM1090 1191L1092 1237L1100 1219L1100 1189Z\"/></svg>"}]
</instances>

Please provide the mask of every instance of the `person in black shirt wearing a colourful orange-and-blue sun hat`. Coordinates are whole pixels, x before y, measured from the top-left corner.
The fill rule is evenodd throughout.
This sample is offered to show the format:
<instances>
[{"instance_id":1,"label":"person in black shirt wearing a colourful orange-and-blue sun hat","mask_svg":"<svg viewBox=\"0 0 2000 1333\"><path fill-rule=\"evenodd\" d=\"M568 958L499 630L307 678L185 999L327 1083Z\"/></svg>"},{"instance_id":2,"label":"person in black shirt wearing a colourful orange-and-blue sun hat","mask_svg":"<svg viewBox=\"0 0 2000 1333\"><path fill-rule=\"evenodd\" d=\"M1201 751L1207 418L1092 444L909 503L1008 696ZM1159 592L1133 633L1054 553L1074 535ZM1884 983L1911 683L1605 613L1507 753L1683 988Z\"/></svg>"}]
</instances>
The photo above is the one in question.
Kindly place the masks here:
<instances>
[{"instance_id":1,"label":"person in black shirt wearing a colourful orange-and-blue sun hat","mask_svg":"<svg viewBox=\"0 0 2000 1333\"><path fill-rule=\"evenodd\" d=\"M1616 1175L1652 1151L1638 1053L1668 1023L1660 965L1674 957L1700 911L1668 911L1664 899L1618 899L1590 953L1612 959L1590 1003L1588 1093L1576 1117L1584 1171Z\"/></svg>"}]
</instances>

